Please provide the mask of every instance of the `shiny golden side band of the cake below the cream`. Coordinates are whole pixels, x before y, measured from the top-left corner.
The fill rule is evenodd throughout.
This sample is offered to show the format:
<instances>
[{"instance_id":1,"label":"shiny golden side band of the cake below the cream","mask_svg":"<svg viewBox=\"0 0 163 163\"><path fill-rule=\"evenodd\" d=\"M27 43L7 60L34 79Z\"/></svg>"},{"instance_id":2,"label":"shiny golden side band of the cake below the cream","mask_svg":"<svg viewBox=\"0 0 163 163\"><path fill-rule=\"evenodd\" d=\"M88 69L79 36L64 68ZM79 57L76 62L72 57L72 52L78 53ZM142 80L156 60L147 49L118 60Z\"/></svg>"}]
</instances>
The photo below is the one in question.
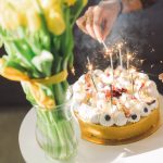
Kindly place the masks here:
<instances>
[{"instance_id":1,"label":"shiny golden side band of the cake below the cream","mask_svg":"<svg viewBox=\"0 0 163 163\"><path fill-rule=\"evenodd\" d=\"M161 99L160 104L162 104ZM77 120L83 139L98 145L118 146L139 141L155 133L163 124L163 110L155 109L138 123L122 127L90 124L83 122L78 116Z\"/></svg>"}]
</instances>

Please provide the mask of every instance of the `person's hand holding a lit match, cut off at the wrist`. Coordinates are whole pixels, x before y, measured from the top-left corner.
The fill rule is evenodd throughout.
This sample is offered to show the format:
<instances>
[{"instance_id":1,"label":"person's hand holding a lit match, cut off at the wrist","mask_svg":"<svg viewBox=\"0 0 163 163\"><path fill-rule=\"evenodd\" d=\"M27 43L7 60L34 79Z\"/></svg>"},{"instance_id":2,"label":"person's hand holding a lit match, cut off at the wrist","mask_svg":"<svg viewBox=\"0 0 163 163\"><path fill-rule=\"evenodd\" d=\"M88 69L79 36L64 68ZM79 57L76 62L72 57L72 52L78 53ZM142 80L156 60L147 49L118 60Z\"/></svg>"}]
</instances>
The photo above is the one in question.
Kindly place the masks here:
<instances>
[{"instance_id":1,"label":"person's hand holding a lit match, cut off at the wrist","mask_svg":"<svg viewBox=\"0 0 163 163\"><path fill-rule=\"evenodd\" d=\"M101 2L90 7L76 24L84 33L101 42L110 34L120 10L121 4L117 1Z\"/></svg>"}]
</instances>

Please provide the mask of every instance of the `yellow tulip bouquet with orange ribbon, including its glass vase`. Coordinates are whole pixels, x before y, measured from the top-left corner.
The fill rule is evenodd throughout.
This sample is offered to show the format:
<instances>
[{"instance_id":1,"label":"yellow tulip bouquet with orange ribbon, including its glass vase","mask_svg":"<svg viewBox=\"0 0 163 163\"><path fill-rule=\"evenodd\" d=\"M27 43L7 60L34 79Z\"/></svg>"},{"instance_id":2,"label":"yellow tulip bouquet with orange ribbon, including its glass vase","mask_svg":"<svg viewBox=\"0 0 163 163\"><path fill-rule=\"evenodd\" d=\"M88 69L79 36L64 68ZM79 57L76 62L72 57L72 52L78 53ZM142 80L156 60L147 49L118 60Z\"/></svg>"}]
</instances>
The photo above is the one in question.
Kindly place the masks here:
<instances>
[{"instance_id":1,"label":"yellow tulip bouquet with orange ribbon, including its glass vase","mask_svg":"<svg viewBox=\"0 0 163 163\"><path fill-rule=\"evenodd\" d=\"M37 140L53 159L77 147L70 114L67 70L73 26L87 0L0 0L0 74L20 82L37 112Z\"/></svg>"}]
</instances>

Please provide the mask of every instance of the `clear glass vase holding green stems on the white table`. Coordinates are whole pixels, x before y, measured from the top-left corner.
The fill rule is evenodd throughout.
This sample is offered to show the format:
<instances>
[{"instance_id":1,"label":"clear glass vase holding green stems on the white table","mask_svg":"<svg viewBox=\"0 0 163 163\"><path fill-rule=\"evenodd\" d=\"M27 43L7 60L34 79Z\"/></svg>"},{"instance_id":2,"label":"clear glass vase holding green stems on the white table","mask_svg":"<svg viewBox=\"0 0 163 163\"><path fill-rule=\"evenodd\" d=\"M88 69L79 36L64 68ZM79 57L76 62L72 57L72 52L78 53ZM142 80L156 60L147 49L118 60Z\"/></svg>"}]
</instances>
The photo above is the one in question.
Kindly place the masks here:
<instances>
[{"instance_id":1,"label":"clear glass vase holding green stems on the white table","mask_svg":"<svg viewBox=\"0 0 163 163\"><path fill-rule=\"evenodd\" d=\"M53 110L35 108L36 139L46 155L51 160L73 160L77 153L77 138L71 114L71 100Z\"/></svg>"}]
</instances>

